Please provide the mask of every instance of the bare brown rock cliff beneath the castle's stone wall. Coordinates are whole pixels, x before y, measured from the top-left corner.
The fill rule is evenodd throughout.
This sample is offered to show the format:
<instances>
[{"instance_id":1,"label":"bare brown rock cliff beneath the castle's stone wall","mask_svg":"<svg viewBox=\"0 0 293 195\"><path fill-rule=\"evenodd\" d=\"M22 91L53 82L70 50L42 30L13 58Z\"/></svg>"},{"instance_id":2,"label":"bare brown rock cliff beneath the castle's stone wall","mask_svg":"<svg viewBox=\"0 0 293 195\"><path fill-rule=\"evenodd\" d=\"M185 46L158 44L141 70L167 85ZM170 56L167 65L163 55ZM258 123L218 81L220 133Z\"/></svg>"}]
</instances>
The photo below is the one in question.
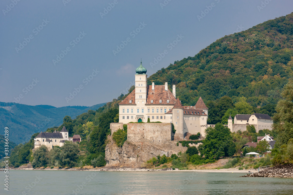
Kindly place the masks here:
<instances>
[{"instance_id":1,"label":"bare brown rock cliff beneath the castle's stone wall","mask_svg":"<svg viewBox=\"0 0 293 195\"><path fill-rule=\"evenodd\" d=\"M144 163L155 156L171 156L182 151L187 147L181 144L176 145L177 141L162 141L153 143L147 139L140 142L125 141L122 147L118 147L111 135L108 136L108 144L105 148L105 167L144 167Z\"/></svg>"}]
</instances>

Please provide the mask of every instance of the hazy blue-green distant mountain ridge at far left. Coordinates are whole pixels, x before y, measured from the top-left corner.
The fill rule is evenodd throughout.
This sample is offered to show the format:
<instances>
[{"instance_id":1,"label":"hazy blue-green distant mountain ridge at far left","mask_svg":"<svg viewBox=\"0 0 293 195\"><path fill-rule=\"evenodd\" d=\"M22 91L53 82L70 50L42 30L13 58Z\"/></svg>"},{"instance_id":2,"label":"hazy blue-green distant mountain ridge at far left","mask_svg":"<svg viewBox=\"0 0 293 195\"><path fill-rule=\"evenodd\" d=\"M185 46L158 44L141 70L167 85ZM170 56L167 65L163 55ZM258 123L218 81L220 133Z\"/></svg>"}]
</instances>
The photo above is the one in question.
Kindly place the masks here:
<instances>
[{"instance_id":1,"label":"hazy blue-green distant mountain ridge at far left","mask_svg":"<svg viewBox=\"0 0 293 195\"><path fill-rule=\"evenodd\" d=\"M16 144L28 141L31 135L59 126L64 116L72 119L88 110L96 110L105 103L88 106L65 106L56 108L50 105L29 106L19 103L0 102L0 129L9 128L9 140ZM1 133L2 134L2 133Z\"/></svg>"}]
</instances>

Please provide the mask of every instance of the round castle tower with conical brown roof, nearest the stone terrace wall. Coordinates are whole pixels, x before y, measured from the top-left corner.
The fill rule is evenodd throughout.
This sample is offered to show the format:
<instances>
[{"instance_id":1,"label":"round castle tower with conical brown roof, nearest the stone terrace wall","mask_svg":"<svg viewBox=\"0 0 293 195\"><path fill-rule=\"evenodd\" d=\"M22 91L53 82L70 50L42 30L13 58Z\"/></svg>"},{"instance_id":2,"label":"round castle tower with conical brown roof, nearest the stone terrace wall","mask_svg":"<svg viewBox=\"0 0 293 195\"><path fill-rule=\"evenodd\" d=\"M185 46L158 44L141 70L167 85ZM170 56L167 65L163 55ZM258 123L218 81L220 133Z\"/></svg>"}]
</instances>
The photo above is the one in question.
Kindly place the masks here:
<instances>
[{"instance_id":1,"label":"round castle tower with conical brown roof, nearest the stone terrace wall","mask_svg":"<svg viewBox=\"0 0 293 195\"><path fill-rule=\"evenodd\" d=\"M183 123L184 123L184 119L183 119L183 106L179 100L179 98L177 98L175 105L172 108L172 121L173 121L173 125L176 129L176 133L174 135L174 140L176 139L184 139L184 131L183 131Z\"/></svg>"}]
</instances>

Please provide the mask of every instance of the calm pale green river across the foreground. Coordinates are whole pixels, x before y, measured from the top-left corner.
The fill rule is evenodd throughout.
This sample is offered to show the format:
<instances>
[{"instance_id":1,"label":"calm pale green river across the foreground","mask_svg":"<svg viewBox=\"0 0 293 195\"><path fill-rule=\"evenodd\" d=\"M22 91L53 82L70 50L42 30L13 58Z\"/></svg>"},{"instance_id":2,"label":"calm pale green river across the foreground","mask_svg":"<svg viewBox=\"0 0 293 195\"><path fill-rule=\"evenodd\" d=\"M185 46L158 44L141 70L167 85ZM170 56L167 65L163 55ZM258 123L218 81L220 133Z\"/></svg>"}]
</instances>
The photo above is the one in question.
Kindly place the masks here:
<instances>
[{"instance_id":1,"label":"calm pale green river across the foreground","mask_svg":"<svg viewBox=\"0 0 293 195\"><path fill-rule=\"evenodd\" d=\"M0 174L4 178L4 171ZM292 178L239 177L242 175L245 173L10 170L9 191L1 184L0 194L293 194Z\"/></svg>"}]
</instances>

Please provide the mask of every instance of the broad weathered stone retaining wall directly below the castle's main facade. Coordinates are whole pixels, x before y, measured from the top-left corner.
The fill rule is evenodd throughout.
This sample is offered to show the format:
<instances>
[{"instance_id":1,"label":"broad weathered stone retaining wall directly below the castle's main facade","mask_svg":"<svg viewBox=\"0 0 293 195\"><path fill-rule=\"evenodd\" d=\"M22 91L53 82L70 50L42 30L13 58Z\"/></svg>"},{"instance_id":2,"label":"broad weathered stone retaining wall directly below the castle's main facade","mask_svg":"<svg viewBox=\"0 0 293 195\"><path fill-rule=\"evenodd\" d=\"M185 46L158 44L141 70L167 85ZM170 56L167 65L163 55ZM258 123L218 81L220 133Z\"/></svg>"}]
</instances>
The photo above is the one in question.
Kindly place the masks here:
<instances>
[{"instance_id":1,"label":"broad weathered stone retaining wall directly below the castle's main facade","mask_svg":"<svg viewBox=\"0 0 293 195\"><path fill-rule=\"evenodd\" d=\"M160 143L171 141L172 124L171 123L128 123L127 141L140 142L144 140Z\"/></svg>"}]
</instances>

